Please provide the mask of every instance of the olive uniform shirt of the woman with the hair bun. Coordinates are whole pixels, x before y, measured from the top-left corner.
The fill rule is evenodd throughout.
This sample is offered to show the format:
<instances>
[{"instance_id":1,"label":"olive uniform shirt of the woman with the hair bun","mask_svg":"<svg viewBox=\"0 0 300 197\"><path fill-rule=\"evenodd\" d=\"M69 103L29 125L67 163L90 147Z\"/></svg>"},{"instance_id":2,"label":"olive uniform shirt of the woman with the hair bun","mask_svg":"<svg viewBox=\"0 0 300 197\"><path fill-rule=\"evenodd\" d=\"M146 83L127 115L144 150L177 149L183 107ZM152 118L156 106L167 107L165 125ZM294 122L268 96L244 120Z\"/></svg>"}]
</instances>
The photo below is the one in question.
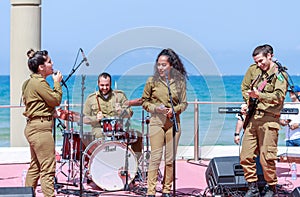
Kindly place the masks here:
<instances>
[{"instance_id":1,"label":"olive uniform shirt of the woman with the hair bun","mask_svg":"<svg viewBox=\"0 0 300 197\"><path fill-rule=\"evenodd\" d=\"M61 103L62 88L59 82L54 82L52 89L42 75L31 74L30 79L23 83L22 95L25 104L24 116L52 116L55 107Z\"/></svg>"}]
</instances>

